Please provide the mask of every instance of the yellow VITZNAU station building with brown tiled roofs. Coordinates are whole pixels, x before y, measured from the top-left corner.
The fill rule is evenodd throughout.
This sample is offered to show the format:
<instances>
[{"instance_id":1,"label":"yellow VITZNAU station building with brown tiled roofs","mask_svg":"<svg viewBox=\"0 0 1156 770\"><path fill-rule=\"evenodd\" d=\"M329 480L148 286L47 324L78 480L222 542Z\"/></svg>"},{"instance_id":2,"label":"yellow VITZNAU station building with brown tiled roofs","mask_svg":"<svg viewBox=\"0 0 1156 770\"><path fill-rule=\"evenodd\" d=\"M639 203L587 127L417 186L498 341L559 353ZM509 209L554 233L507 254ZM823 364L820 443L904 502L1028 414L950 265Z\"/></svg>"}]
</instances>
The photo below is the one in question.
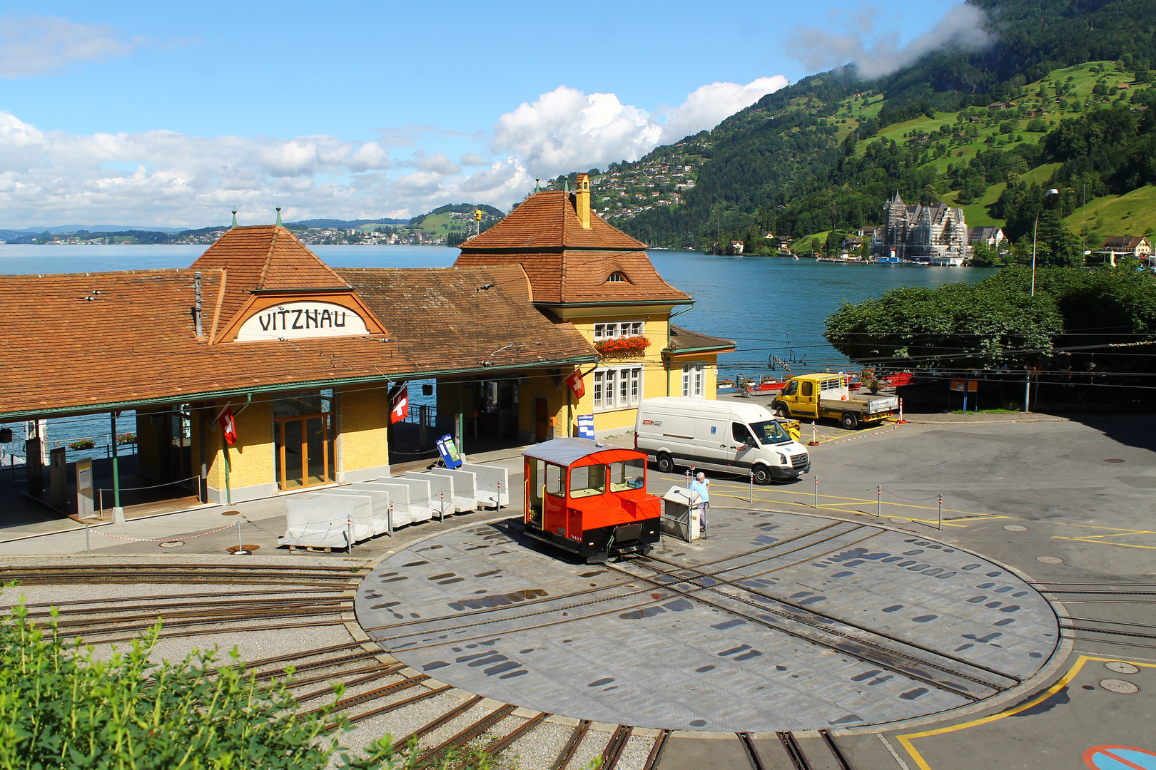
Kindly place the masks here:
<instances>
[{"instance_id":1,"label":"yellow VITZNAU station building with brown tiled roofs","mask_svg":"<svg viewBox=\"0 0 1156 770\"><path fill-rule=\"evenodd\" d=\"M643 397L713 398L734 350L669 322L692 299L643 249L590 211L583 179L452 268L331 268L279 217L187 269L2 276L0 423L134 411L140 479L224 503L388 474L391 405L415 380L467 453L577 435L579 414L624 429Z\"/></svg>"}]
</instances>

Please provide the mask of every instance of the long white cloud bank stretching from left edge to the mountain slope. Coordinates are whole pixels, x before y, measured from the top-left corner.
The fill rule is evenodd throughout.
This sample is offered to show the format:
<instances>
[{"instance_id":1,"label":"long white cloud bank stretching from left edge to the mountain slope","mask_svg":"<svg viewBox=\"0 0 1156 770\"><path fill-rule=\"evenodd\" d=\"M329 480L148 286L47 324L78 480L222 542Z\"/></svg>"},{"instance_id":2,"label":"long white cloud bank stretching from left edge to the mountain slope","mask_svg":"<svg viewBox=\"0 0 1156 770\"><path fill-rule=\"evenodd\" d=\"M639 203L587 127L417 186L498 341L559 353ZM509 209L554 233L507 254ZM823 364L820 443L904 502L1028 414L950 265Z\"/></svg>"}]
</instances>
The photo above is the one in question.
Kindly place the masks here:
<instances>
[{"instance_id":1,"label":"long white cloud bank stretching from left edge to the mountain slope","mask_svg":"<svg viewBox=\"0 0 1156 770\"><path fill-rule=\"evenodd\" d=\"M674 109L647 112L614 94L560 87L502 115L494 160L437 149L482 134L402 126L376 141L309 136L191 136L171 130L77 135L40 130L0 111L0 226L123 223L200 227L286 220L412 217L445 203L509 208L534 178L633 159L664 141L710 128L786 84L711 83ZM412 150L398 150L409 147ZM445 144L443 144L445 147ZM391 155L403 152L400 157ZM464 171L468 169L469 171ZM472 173L470 173L472 172Z\"/></svg>"}]
</instances>

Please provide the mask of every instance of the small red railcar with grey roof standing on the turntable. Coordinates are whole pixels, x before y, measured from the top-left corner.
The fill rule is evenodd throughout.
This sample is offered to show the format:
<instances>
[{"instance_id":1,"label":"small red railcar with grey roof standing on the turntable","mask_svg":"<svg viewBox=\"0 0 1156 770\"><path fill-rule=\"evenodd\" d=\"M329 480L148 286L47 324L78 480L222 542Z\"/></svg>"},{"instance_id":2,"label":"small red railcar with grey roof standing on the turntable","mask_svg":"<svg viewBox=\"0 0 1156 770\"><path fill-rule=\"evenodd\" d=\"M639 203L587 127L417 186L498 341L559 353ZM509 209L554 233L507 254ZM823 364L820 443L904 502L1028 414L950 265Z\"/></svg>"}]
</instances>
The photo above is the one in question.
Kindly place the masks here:
<instances>
[{"instance_id":1,"label":"small red railcar with grey roof standing on the turntable","mask_svg":"<svg viewBox=\"0 0 1156 770\"><path fill-rule=\"evenodd\" d=\"M583 556L646 553L661 532L662 501L646 494L646 454L590 439L554 439L524 453L525 529Z\"/></svg>"}]
</instances>

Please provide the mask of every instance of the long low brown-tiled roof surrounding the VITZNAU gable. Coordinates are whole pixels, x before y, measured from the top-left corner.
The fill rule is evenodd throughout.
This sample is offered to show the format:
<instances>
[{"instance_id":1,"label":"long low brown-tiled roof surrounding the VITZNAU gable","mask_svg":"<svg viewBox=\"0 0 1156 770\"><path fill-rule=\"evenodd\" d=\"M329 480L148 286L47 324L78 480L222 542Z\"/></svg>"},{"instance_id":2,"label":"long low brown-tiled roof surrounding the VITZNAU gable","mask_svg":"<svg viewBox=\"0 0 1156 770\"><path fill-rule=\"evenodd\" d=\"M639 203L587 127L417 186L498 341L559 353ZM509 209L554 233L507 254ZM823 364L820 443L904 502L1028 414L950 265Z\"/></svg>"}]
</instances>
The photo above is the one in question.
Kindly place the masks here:
<instances>
[{"instance_id":1,"label":"long low brown-tiled roof surrounding the VITZNAU gable","mask_svg":"<svg viewBox=\"0 0 1156 770\"><path fill-rule=\"evenodd\" d=\"M195 336L191 269L0 276L0 307L10 314L0 324L0 414L380 382L479 369L482 360L494 367L596 360L577 330L550 323L531 305L516 267L342 275L355 272L362 299L392 322L387 342L361 336L210 345L207 335ZM201 274L209 319L223 272ZM474 291L486 283L494 286Z\"/></svg>"}]
</instances>

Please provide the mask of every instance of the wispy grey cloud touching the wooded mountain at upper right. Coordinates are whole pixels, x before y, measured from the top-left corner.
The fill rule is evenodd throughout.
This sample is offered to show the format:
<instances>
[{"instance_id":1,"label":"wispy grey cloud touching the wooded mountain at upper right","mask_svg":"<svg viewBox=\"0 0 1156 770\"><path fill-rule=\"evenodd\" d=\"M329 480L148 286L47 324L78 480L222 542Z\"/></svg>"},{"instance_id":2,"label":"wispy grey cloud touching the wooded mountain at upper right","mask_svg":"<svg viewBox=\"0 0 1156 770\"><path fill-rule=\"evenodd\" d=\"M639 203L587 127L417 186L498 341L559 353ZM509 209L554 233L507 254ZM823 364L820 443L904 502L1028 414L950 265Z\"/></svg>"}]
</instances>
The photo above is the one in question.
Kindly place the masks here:
<instances>
[{"instance_id":1,"label":"wispy grey cloud touching the wooded mountain at upper right","mask_svg":"<svg viewBox=\"0 0 1156 770\"><path fill-rule=\"evenodd\" d=\"M854 63L860 77L873 80L890 75L933 51L981 51L988 47L994 38L984 29L986 22L987 15L979 8L956 6L934 28L903 47L898 44L898 36L890 32L877 37L868 48L864 38L874 28L869 14L860 15L853 22L857 31L846 35L796 27L792 33L794 45L787 48L787 53L816 70Z\"/></svg>"}]
</instances>

